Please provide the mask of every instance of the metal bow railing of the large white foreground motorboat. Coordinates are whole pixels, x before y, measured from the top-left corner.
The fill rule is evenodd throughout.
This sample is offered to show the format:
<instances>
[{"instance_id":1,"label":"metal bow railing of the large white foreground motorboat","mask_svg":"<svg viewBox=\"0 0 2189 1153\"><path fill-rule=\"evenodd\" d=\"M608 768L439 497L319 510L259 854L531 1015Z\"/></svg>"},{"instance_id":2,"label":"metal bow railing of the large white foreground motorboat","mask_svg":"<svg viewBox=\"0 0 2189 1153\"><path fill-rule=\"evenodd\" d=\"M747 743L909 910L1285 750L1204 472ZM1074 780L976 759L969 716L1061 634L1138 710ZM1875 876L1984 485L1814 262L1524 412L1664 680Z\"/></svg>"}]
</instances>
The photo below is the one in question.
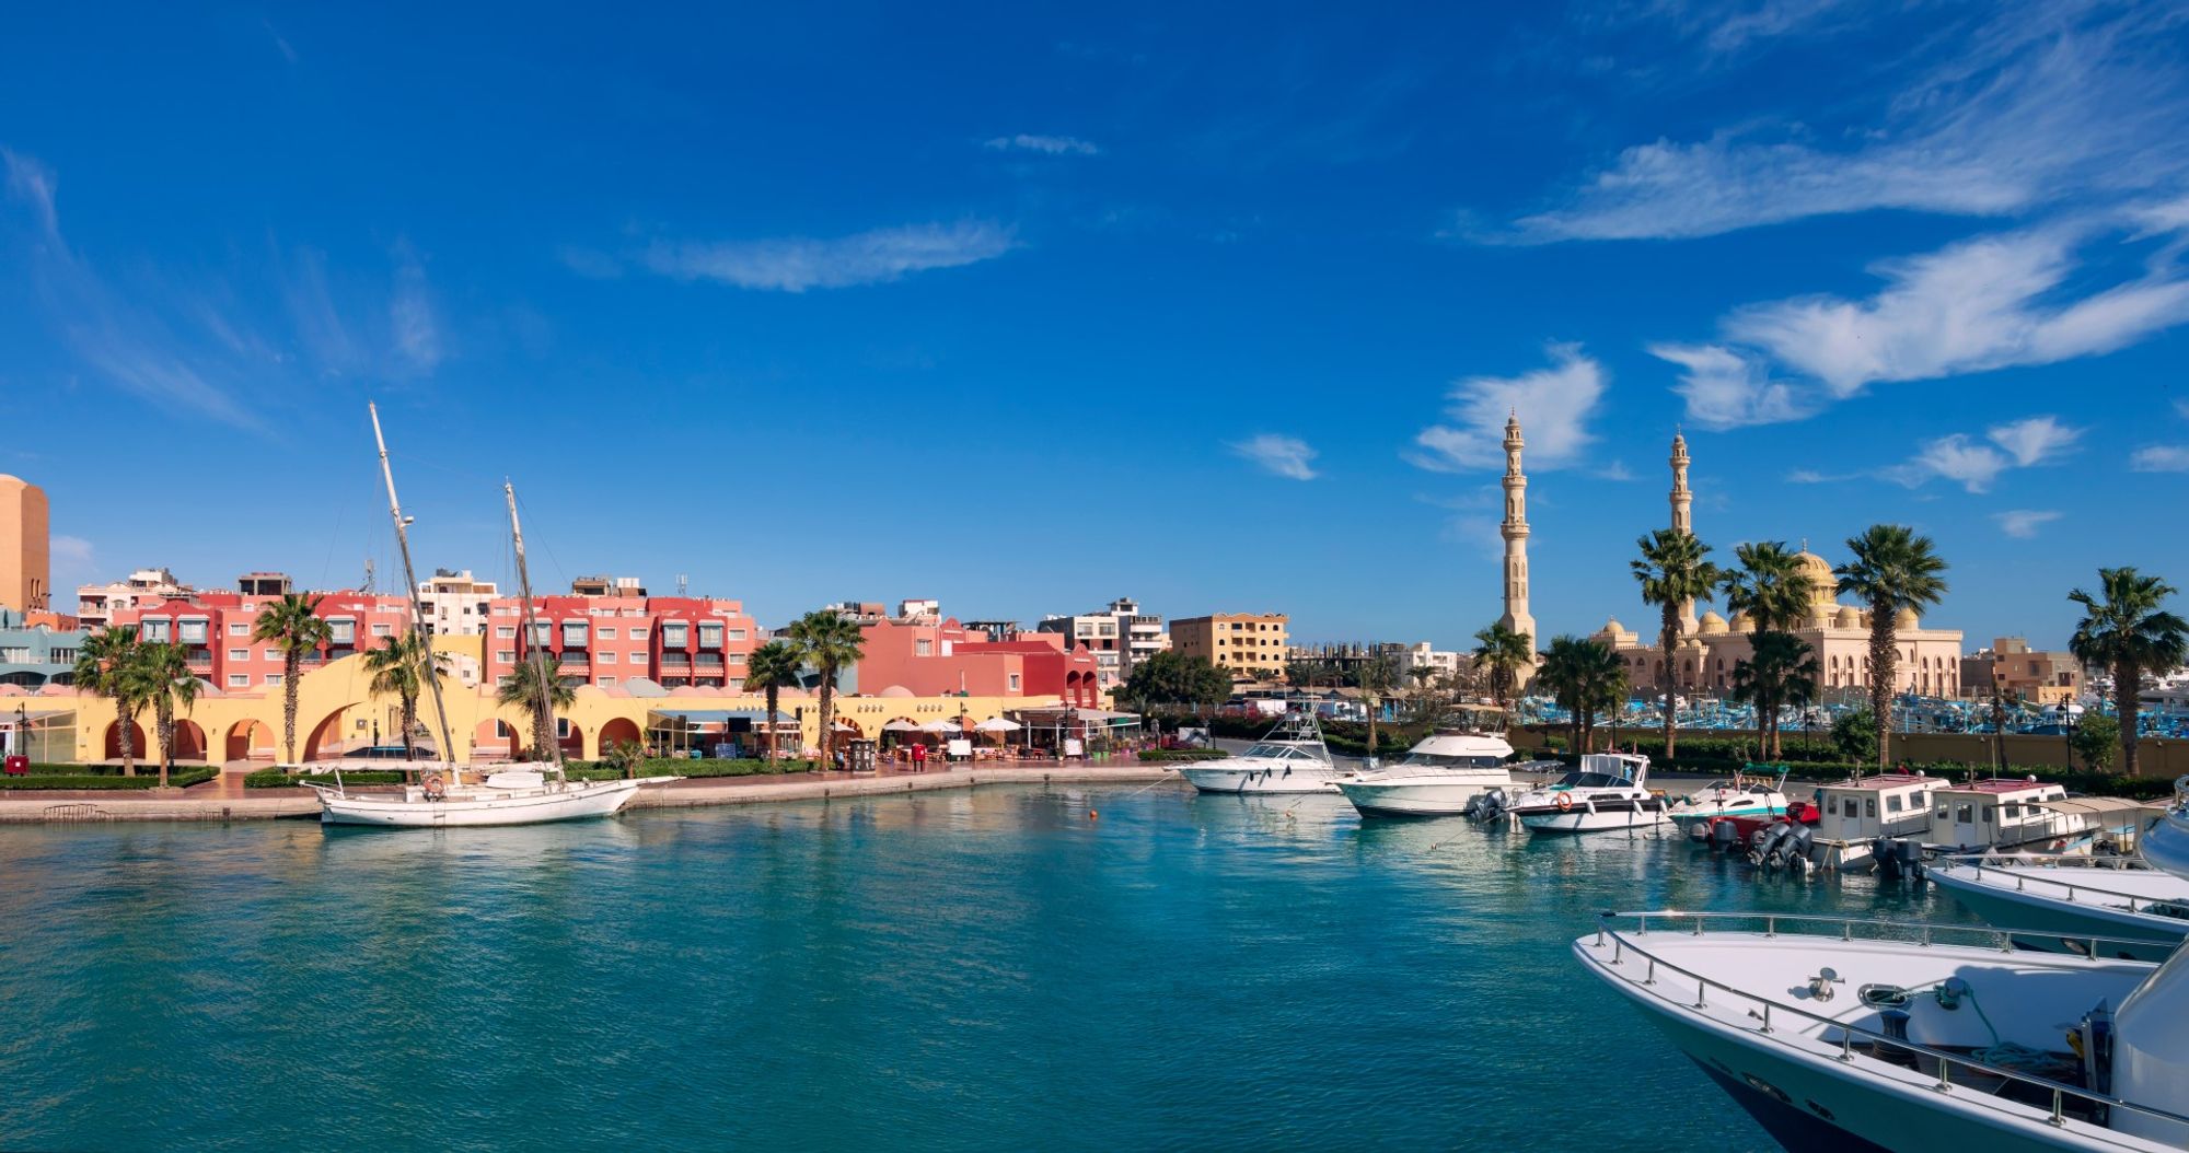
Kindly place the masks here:
<instances>
[{"instance_id":1,"label":"metal bow railing of the large white foreground motorboat","mask_svg":"<svg viewBox=\"0 0 2189 1153\"><path fill-rule=\"evenodd\" d=\"M1626 932L1620 932L1618 928L1613 928L1611 921L1622 919L1622 917L1635 921L1633 934L1626 934ZM1589 947L1602 950L1602 947L1609 945L1611 947L1611 960L1607 965L1624 965L1626 963L1626 954L1635 954L1637 958L1646 960L1648 963L1648 971L1644 974L1644 978L1640 980L1640 985L1657 985L1659 971L1670 974L1672 978L1679 978L1681 982L1694 982L1694 1009L1707 1009L1707 1004L1710 1004L1710 991L1712 989L1716 989L1718 993L1729 993L1734 998L1740 998L1740 1000L1747 1000L1747 1002L1760 1006L1762 1009L1760 1013L1758 1011L1749 1011L1749 1017L1753 1017L1758 1022L1756 1028L1753 1028L1753 1033L1764 1033L1764 1035L1780 1033L1771 1024L1771 1015L1773 1013L1777 1013L1782 1020L1784 1017L1797 1017L1802 1022L1810 1022L1810 1024L1823 1026L1823 1033L1817 1035L1819 1041L1830 1041L1832 1037L1828 1037L1826 1033L1837 1028L1839 1030L1839 1061L1854 1061L1854 1057L1856 1057L1854 1041L1856 1039L1863 1039L1865 1044L1872 1046L1872 1052L1867 1055L1872 1059L1876 1059L1876 1046L1883 1046L1883 1048L1889 1048L1889 1050L1900 1050L1900 1052L1911 1052L1911 1055L1920 1055L1920 1057L1929 1057L1929 1059L1933 1059L1937 1063L1937 1083L1931 1085L1931 1087L1935 1092L1942 1092L1942 1094L1955 1092L1957 1085L1953 1083L1953 1070L1955 1068L1964 1068L1964 1070L1977 1072L1981 1076L1994 1076L1994 1079L2003 1079L2003 1081L2016 1081L2020 1085L2029 1085L2029 1087L2038 1090L2040 1094L2051 1094L2051 1116L2045 1118L2045 1120L2049 1125L2053 1125L2053 1127L2064 1127L2071 1120L2069 1114L2066 1114L2066 1103L2071 1098L2090 1107L2090 1116L2088 1118L2075 1118L2075 1120L2088 1120L2088 1125L2108 1127L2106 1120L2101 1120L2101 1118L2110 1116L2110 1111L2115 1111L2115 1109L2126 1109L2130 1114L2139 1114L2139 1116L2147 1116L2147 1118L2167 1120L2167 1122L2174 1122L2174 1125L2189 1127L2189 1116L2182 1116L2182 1114L2174 1114L2174 1111L2167 1111L2167 1109L2156 1109L2156 1107L2150 1107L2150 1105L2136 1105L2134 1100L2123 1100L2123 1098L2108 1096L2108 1094L2101 1094L2101 1092L2084 1090L2082 1085L2069 1085L2064 1081L2053 1081L2049 1076L2038 1076L2034 1072L2020 1072L2020 1070L2012 1070L2012 1068L2005 1068L2005 1065L1990 1065L1990 1063L1977 1061L1974 1057L1970 1057L1966 1052L1948 1052L1948 1050L1942 1050L1942 1048L1931 1048L1931 1046L1926 1046L1922 1041L1913 1041L1913 1039L1907 1039L1907 1037L1887 1037L1885 1033L1878 1033L1874 1028L1850 1024L1850 1022L1843 1022L1839 1017L1828 1017L1823 1013L1810 1013L1808 1009L1802 1009L1802 1006L1795 1006L1795 1004L1775 1002L1775 1000L1771 1000L1767 995L1749 993L1745 989L1734 989L1731 985L1725 985L1721 980L1710 980L1707 976L1696 974L1694 969L1686 969L1681 965L1675 965L1675 963L1670 963L1670 960L1666 960L1666 958L1648 952L1644 945L1640 945L1635 941L1635 936L1646 936L1648 932L1653 932L1651 930L1651 921L1653 919L1659 923L1657 932L1675 930L1679 925L1686 925L1688 934L1692 934L1692 936L1703 936L1703 925L1705 923L1718 923L1718 921L1747 921L1751 925L1756 921L1762 921L1764 923L1764 936L1777 936L1782 921L1784 923L1793 923L1797 930L1806 930L1810 925L1830 925L1830 928L1839 930L1839 939L1841 941L1854 941L1856 939L1856 930L1863 932L1863 939L1874 939L1874 941L1907 941L1907 934L1913 930L1913 932L1920 932L1920 945L1922 947L1931 947L1931 943L1939 934L1948 934L1948 936L1981 939L1985 945L1996 947L1999 952L2016 952L2014 950L2014 936L2058 936L2053 932L1994 930L1994 928L1988 928L1988 925L1933 925L1933 923L1926 923L1926 921L1880 921L1880 919L1874 919L1874 917L1819 917L1819 915L1808 915L1808 912L1681 912L1681 910L1613 912L1613 910L1605 910L1605 912L1600 912L1596 917L1596 943L1589 945ZM1878 930L1896 930L1896 932L1887 934L1887 932L1878 932ZM1819 934L1819 932L1802 932L1802 936L1823 936L1823 934ZM2097 956L2097 945L2099 943L2150 947L2150 941L2136 941L2136 939L2126 939L2126 936L2073 936L2071 941L2088 941L2090 943L2090 952L2086 954L2086 958L2095 958ZM1664 1000L1675 1000L1675 998L1666 995ZM1721 1017L1721 1022L1723 1022L1723 1017ZM1731 1024L1731 1022L1727 1022L1727 1024ZM1786 1041L1782 1041L1782 1044L1786 1044ZM1902 1068L1902 1065L1896 1065L1896 1068ZM1966 1085L1961 1085L1961 1087L1966 1087ZM2023 1105L2023 1103L2016 1100L2016 1105Z\"/></svg>"}]
</instances>

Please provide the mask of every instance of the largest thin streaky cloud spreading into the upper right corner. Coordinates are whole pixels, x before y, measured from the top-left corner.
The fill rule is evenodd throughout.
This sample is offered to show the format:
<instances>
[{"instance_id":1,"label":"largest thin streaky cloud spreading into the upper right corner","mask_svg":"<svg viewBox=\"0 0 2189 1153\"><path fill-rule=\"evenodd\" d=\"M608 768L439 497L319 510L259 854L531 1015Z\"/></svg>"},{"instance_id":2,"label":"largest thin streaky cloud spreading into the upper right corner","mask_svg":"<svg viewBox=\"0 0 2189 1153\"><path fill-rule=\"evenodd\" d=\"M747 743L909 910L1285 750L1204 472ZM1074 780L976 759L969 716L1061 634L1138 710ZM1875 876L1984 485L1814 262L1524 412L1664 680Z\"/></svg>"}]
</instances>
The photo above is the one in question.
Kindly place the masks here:
<instances>
[{"instance_id":1,"label":"largest thin streaky cloud spreading into the upper right corner","mask_svg":"<svg viewBox=\"0 0 2189 1153\"><path fill-rule=\"evenodd\" d=\"M1712 42L1738 46L1821 9L1764 4ZM1942 37L1957 53L1837 125L1837 138L1751 116L1701 140L1633 144L1552 208L1478 238L1710 236L1874 208L1992 217L2189 171L2178 13L2082 2L1988 11L1988 24Z\"/></svg>"}]
</instances>

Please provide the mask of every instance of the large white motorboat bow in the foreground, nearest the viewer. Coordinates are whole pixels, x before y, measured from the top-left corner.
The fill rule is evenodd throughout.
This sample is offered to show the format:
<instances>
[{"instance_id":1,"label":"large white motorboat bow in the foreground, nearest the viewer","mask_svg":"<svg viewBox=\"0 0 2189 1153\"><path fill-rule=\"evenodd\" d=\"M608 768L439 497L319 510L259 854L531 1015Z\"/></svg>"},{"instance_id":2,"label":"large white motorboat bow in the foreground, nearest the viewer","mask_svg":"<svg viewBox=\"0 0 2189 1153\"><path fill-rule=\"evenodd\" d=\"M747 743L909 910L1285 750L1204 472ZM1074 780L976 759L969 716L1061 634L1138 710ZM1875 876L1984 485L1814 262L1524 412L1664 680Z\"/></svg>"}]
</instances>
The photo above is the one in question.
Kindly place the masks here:
<instances>
[{"instance_id":1,"label":"large white motorboat bow in the foreground, nearest the viewer","mask_svg":"<svg viewBox=\"0 0 2189 1153\"><path fill-rule=\"evenodd\" d=\"M2178 790L2189 794L2189 779ZM2143 858L2189 880L2189 801ZM2119 1149L2189 1144L2189 950L2018 928L1771 912L1607 912L1574 941L1780 1144Z\"/></svg>"}]
</instances>

